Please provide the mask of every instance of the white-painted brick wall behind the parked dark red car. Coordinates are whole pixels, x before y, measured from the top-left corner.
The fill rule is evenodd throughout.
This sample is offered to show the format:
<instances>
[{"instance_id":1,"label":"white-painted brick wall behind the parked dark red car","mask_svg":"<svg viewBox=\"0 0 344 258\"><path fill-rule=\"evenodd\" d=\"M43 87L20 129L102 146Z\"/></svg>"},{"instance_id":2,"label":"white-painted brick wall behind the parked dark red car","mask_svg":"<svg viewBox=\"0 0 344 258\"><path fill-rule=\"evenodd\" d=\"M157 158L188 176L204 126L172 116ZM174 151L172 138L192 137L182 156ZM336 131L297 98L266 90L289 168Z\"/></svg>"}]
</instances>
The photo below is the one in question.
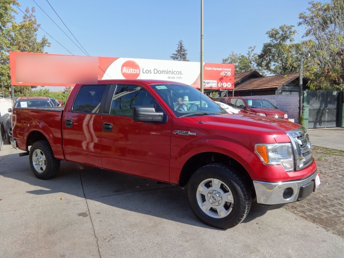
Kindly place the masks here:
<instances>
[{"instance_id":1,"label":"white-painted brick wall behind the parked dark red car","mask_svg":"<svg viewBox=\"0 0 344 258\"><path fill-rule=\"evenodd\" d=\"M299 94L250 96L269 100L272 105L288 114L289 119L299 123Z\"/></svg>"}]
</instances>

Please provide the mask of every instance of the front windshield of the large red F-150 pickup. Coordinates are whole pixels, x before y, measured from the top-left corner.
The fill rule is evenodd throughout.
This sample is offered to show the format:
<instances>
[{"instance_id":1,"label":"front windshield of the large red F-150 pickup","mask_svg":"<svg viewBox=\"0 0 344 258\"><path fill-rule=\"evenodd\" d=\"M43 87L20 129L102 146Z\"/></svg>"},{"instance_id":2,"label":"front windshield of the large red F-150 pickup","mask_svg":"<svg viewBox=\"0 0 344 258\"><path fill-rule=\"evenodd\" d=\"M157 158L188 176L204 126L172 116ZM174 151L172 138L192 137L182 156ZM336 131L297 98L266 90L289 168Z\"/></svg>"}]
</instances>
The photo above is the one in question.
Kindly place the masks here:
<instances>
[{"instance_id":1,"label":"front windshield of the large red F-150 pickup","mask_svg":"<svg viewBox=\"0 0 344 258\"><path fill-rule=\"evenodd\" d=\"M171 108L176 117L227 114L211 98L191 86L154 84L151 87Z\"/></svg>"}]
</instances>

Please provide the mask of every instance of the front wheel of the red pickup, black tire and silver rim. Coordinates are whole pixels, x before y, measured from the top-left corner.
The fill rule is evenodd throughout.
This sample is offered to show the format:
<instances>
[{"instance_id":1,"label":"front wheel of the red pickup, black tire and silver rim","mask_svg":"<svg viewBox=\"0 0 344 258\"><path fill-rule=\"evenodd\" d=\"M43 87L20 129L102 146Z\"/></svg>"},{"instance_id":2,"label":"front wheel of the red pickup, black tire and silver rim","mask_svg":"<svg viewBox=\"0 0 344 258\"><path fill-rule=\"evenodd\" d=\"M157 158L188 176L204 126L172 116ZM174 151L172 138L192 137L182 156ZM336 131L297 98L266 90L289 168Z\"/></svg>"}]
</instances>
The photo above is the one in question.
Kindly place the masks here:
<instances>
[{"instance_id":1,"label":"front wheel of the red pickup, black tire and silver rim","mask_svg":"<svg viewBox=\"0 0 344 258\"><path fill-rule=\"evenodd\" d=\"M200 221L228 229L246 218L252 197L245 181L238 175L234 168L215 163L203 166L191 176L187 195L191 210Z\"/></svg>"}]
</instances>

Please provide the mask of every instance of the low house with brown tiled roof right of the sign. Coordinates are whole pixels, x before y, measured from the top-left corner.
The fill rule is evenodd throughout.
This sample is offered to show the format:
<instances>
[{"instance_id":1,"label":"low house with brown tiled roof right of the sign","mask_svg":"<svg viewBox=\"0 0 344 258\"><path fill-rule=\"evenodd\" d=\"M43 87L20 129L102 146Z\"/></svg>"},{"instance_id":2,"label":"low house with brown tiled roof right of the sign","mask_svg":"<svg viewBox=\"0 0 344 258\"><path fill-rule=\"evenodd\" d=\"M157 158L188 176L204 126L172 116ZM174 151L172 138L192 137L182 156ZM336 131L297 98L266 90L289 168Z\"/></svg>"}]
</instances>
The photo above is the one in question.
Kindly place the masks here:
<instances>
[{"instance_id":1,"label":"low house with brown tiled roof right of the sign","mask_svg":"<svg viewBox=\"0 0 344 258\"><path fill-rule=\"evenodd\" d=\"M303 90L309 79L303 78ZM234 96L287 95L299 93L299 73L263 77L256 71L237 73Z\"/></svg>"}]
</instances>

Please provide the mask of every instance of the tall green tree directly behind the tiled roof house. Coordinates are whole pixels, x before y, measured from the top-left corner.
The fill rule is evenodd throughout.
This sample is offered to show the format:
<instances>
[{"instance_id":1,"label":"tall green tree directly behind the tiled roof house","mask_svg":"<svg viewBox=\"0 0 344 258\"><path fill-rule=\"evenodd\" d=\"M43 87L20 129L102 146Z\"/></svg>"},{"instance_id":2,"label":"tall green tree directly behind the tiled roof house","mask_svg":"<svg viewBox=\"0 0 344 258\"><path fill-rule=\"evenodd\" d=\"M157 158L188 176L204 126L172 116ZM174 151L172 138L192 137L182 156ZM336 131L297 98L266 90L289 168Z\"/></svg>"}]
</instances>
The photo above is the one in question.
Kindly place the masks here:
<instances>
[{"instance_id":1,"label":"tall green tree directly behind the tiled roof house","mask_svg":"<svg viewBox=\"0 0 344 258\"><path fill-rule=\"evenodd\" d=\"M285 74L298 71L299 44L294 44L297 30L293 25L281 25L267 31L270 42L264 43L258 55L258 66L271 74Z\"/></svg>"}]
</instances>

